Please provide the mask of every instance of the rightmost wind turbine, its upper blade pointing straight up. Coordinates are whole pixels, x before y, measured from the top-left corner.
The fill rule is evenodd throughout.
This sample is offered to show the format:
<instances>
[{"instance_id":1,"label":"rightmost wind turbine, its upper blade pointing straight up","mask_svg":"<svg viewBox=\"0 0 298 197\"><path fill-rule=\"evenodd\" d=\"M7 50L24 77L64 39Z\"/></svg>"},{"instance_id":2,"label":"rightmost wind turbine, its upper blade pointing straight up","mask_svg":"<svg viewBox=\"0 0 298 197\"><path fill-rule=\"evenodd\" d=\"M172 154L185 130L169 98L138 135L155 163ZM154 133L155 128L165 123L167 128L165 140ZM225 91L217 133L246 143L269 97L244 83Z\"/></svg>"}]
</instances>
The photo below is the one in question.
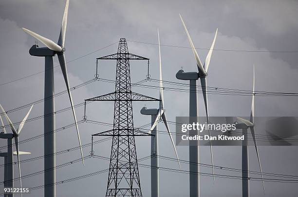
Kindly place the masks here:
<instances>
[{"instance_id":1,"label":"rightmost wind turbine, its upper blade pointing straight up","mask_svg":"<svg viewBox=\"0 0 298 197\"><path fill-rule=\"evenodd\" d=\"M260 162L258 146L256 141L254 117L255 117L255 65L254 65L253 95L252 95L252 102L251 102L250 119L246 120L246 119L237 117L237 119L240 120L242 123L236 124L236 128L242 129L242 135L244 135L244 139L246 139L242 141L242 197L249 197L249 178L244 178L244 177L249 177L249 160L248 160L248 148L247 148L247 129L248 128L250 129L252 138L254 140L255 149L256 149L259 166L261 170L263 191L265 193L261 162Z\"/></svg>"}]
</instances>

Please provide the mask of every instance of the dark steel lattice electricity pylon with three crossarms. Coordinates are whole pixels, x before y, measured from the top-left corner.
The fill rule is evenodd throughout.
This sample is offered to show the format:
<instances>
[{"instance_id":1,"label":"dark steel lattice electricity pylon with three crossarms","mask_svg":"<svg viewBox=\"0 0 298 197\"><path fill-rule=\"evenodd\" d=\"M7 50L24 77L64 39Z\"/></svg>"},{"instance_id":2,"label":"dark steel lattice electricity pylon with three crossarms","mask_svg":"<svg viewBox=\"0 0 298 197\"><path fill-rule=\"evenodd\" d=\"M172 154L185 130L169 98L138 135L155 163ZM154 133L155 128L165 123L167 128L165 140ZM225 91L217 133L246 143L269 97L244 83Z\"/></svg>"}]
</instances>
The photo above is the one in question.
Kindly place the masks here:
<instances>
[{"instance_id":1,"label":"dark steel lattice electricity pylon with three crossarms","mask_svg":"<svg viewBox=\"0 0 298 197\"><path fill-rule=\"evenodd\" d=\"M142 197L134 137L150 134L134 129L132 101L159 99L131 92L130 59L149 59L130 54L123 38L117 54L98 59L117 59L115 92L85 100L114 101L113 129L93 135L113 137L106 197Z\"/></svg>"}]
</instances>

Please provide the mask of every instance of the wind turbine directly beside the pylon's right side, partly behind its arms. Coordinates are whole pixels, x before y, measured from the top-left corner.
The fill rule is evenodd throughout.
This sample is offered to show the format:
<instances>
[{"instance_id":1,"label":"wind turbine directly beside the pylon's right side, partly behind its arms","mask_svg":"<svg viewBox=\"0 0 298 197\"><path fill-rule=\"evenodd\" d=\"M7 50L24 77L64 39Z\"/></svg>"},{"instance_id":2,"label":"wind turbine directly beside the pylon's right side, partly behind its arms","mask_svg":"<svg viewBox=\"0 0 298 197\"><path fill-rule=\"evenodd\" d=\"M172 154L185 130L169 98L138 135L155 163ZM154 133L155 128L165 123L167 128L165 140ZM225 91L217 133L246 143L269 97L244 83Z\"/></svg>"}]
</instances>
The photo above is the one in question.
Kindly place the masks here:
<instances>
[{"instance_id":1,"label":"wind turbine directly beside the pylon's right side, partly behind its arms","mask_svg":"<svg viewBox=\"0 0 298 197\"><path fill-rule=\"evenodd\" d=\"M164 109L164 93L163 93L163 79L162 79L162 69L161 69L161 56L160 56L160 42L159 42L159 31L157 29L158 34L158 49L159 49L159 109L147 109L143 107L141 109L141 114L143 115L151 115L151 128L150 132L154 135L151 136L151 197L159 197L159 170L158 170L158 132L157 132L157 123L159 120L163 119L164 124L167 128L168 135L171 139L172 145L175 150L175 154L178 160L179 167L180 161L178 158L178 154L176 151L176 147L170 133L168 122Z\"/></svg>"}]
</instances>

